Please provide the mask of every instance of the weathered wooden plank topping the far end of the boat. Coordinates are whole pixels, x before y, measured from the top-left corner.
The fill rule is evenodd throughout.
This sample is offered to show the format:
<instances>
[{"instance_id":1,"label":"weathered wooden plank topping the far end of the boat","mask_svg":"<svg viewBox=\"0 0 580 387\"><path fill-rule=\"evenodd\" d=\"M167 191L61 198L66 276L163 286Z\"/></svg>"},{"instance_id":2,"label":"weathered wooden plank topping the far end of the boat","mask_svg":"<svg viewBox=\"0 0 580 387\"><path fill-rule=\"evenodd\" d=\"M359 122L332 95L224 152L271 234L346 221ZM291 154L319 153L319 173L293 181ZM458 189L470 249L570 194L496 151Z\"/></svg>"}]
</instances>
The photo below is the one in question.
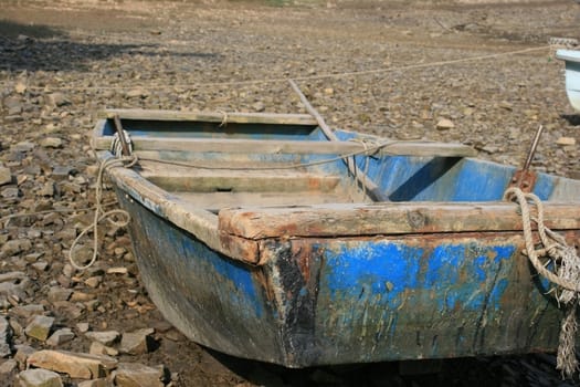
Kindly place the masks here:
<instances>
[{"instance_id":1,"label":"weathered wooden plank topping the far end of the boat","mask_svg":"<svg viewBox=\"0 0 580 387\"><path fill-rule=\"evenodd\" d=\"M308 114L274 114L274 113L230 113L230 112L181 112L151 109L106 109L99 113L101 118L113 118L116 114L120 119L138 121L198 121L209 123L236 124L280 124L316 126L316 119Z\"/></svg>"}]
</instances>

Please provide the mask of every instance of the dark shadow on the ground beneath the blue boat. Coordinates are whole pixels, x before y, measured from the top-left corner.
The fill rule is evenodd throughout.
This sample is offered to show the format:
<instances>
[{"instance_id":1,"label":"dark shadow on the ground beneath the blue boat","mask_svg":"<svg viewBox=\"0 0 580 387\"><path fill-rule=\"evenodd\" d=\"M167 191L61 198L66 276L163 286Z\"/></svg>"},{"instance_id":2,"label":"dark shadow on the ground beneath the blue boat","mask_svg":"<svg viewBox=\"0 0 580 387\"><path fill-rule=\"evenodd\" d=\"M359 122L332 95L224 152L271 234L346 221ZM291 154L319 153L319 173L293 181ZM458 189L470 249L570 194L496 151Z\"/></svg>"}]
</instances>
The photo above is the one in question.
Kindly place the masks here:
<instances>
[{"instance_id":1,"label":"dark shadow on the ground beneath the blue boat","mask_svg":"<svg viewBox=\"0 0 580 387\"><path fill-rule=\"evenodd\" d=\"M529 373L542 373L545 379L561 380L551 354L524 356L468 357L443 360L384 362L291 369L277 365L235 358L203 348L217 362L246 380L238 386L265 387L489 387L527 386ZM569 383L568 383L569 381ZM512 384L513 383L513 384Z\"/></svg>"}]
</instances>

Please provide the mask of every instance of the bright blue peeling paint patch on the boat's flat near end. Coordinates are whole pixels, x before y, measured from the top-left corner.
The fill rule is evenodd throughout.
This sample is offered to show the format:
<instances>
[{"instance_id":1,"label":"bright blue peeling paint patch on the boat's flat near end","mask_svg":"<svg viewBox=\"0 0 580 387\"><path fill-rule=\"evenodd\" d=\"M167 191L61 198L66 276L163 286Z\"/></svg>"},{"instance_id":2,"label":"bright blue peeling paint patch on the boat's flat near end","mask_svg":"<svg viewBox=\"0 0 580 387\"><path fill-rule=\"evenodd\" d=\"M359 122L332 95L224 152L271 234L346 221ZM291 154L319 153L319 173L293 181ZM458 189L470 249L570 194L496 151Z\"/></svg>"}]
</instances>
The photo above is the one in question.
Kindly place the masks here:
<instances>
[{"instance_id":1,"label":"bright blue peeling paint patch on the boat's flat near end","mask_svg":"<svg viewBox=\"0 0 580 387\"><path fill-rule=\"evenodd\" d=\"M499 310L515 251L513 245L476 242L437 245L430 252L384 241L342 245L327 251L321 289L328 286L333 303L354 307L429 303L439 313L481 311L484 305Z\"/></svg>"}]
</instances>

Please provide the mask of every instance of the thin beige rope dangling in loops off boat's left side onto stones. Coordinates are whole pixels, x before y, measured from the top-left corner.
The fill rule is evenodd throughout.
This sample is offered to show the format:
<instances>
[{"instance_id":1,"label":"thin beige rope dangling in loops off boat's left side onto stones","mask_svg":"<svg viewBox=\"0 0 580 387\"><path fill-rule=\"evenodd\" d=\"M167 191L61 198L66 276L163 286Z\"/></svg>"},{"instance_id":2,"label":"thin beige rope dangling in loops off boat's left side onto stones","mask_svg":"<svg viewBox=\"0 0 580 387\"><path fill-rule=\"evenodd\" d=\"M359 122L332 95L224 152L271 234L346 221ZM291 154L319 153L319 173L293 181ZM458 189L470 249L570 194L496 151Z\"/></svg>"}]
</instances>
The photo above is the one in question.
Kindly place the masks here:
<instances>
[{"instance_id":1,"label":"thin beige rope dangling in loops off boat's left side onto stones","mask_svg":"<svg viewBox=\"0 0 580 387\"><path fill-rule=\"evenodd\" d=\"M117 157L117 158L109 158L101 163L98 167L98 175L97 175L97 181L96 181L96 188L95 188L96 206L95 206L95 216L93 217L93 223L91 223L85 229L83 229L83 231L81 231L81 233L76 237L76 239L71 244L71 250L68 250L68 261L71 262L73 268L75 268L76 270L86 270L95 263L97 255L98 255L98 223L101 221L106 219L109 223L116 227L126 227L129 223L130 216L127 211L122 210L122 209L114 209L109 211L103 210L103 205L102 205L103 202L103 178L104 178L105 171L108 170L109 168L119 167L119 166L123 166L125 168L130 168L136 163L137 163L136 156L123 156L123 157ZM113 219L114 216L120 216L123 219L114 220ZM75 257L76 254L75 247L81 240L81 238L86 236L91 230L93 230L93 257L87 264L82 265L77 263L77 260Z\"/></svg>"}]
</instances>

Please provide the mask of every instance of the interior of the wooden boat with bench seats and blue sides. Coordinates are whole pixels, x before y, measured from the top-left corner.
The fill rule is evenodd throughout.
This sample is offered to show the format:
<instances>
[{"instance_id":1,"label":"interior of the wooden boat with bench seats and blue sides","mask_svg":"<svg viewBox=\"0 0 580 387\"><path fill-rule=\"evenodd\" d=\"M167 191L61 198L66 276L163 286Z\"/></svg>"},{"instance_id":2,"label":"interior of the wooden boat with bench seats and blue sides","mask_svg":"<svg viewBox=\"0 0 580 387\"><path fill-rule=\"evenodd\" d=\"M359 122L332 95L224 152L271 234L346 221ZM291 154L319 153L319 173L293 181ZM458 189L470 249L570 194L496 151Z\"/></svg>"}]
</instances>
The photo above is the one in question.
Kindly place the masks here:
<instances>
[{"instance_id":1,"label":"interior of the wooden boat with bench seats and blue sides","mask_svg":"<svg viewBox=\"0 0 580 387\"><path fill-rule=\"evenodd\" d=\"M244 115L199 119L123 119L140 176L199 208L373 201L498 201L516 168L471 158L461 144L396 142L336 130L328 140L310 116ZM285 118L286 122L285 123ZM190 117L191 118L191 117ZM251 118L255 121L255 115ZM114 121L95 147L107 149ZM373 197L373 190L381 196ZM578 200L576 180L538 174L542 200Z\"/></svg>"}]
</instances>

